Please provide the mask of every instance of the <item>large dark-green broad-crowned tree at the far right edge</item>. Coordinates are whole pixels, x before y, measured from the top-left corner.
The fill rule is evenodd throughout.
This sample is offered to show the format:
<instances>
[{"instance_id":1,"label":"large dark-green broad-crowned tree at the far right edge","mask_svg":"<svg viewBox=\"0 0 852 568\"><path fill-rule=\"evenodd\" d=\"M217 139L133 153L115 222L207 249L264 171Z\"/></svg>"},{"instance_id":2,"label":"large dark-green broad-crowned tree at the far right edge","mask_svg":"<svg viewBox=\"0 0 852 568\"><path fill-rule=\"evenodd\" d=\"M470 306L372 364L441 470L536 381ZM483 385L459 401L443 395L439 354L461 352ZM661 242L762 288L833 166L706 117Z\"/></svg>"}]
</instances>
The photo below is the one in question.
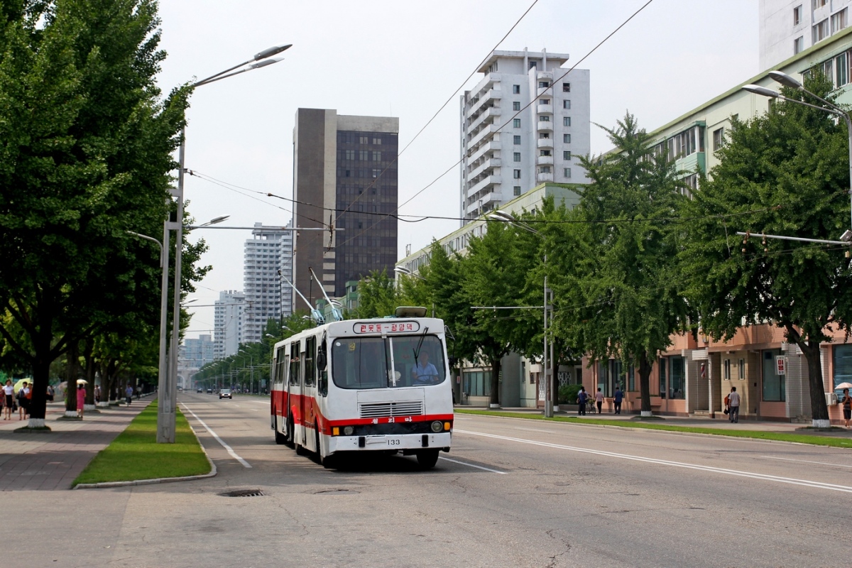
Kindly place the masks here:
<instances>
[{"instance_id":1,"label":"large dark-green broad-crowned tree at the far right edge","mask_svg":"<svg viewBox=\"0 0 852 568\"><path fill-rule=\"evenodd\" d=\"M831 99L832 83L807 88ZM784 89L801 100L803 94ZM814 100L806 99L813 103ZM683 259L688 294L709 335L728 339L743 324L785 331L808 362L813 424L827 427L820 343L852 318L852 271L845 247L763 239L761 233L836 240L849 228L848 136L827 112L778 102L742 123L735 118L690 204ZM753 236L740 244L736 231Z\"/></svg>"}]
</instances>

